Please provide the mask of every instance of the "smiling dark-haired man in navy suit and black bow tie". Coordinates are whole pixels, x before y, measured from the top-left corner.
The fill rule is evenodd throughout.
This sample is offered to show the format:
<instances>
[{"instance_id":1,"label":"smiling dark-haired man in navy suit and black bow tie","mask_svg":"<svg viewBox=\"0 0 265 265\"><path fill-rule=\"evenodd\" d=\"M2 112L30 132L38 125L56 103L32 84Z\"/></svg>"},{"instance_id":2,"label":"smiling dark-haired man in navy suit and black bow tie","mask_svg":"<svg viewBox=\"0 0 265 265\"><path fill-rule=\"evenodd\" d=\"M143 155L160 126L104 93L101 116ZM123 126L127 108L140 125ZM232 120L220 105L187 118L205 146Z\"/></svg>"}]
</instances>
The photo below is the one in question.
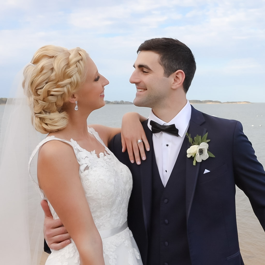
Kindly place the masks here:
<instances>
[{"instance_id":1,"label":"smiling dark-haired man in navy suit and black bow tie","mask_svg":"<svg viewBox=\"0 0 265 265\"><path fill-rule=\"evenodd\" d=\"M152 108L143 123L150 151L141 165L131 164L121 152L120 135L111 150L133 174L128 225L143 263L242 265L235 184L265 230L264 169L240 122L201 113L187 101L196 64L186 45L156 38L137 52L130 82L137 89L134 104ZM196 147L197 160L206 159L187 157L186 133L193 139L207 133L208 151L215 157Z\"/></svg>"}]
</instances>

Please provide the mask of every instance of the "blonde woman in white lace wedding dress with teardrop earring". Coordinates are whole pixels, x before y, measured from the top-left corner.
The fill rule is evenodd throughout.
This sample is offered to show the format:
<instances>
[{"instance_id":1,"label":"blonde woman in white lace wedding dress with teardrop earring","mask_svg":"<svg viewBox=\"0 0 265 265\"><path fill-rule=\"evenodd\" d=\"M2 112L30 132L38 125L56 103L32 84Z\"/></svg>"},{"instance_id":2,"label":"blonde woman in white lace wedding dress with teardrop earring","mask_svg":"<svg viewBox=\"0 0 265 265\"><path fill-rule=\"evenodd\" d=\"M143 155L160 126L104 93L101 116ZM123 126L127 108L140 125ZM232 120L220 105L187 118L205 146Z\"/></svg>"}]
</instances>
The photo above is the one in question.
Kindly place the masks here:
<instances>
[{"instance_id":1,"label":"blonde woman in white lace wedding dress with teardrop earring","mask_svg":"<svg viewBox=\"0 0 265 265\"><path fill-rule=\"evenodd\" d=\"M33 126L48 134L29 168L38 153L36 188L72 238L46 265L142 264L127 226L131 173L107 147L120 129L87 127L89 114L105 105L109 81L85 50L52 45L36 51L23 75Z\"/></svg>"}]
</instances>

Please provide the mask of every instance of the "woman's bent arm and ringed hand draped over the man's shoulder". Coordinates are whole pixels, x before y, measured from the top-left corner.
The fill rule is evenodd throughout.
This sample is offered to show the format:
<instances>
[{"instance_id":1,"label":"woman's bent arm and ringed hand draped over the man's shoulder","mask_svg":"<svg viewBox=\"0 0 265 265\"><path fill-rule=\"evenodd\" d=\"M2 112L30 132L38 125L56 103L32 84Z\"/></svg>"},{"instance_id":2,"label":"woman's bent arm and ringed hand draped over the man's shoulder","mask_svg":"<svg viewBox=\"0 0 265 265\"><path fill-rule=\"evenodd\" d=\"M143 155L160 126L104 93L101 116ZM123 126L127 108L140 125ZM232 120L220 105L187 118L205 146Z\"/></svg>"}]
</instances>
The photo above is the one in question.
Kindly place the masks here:
<instances>
[{"instance_id":1,"label":"woman's bent arm and ringed hand draped over the man's shoulder","mask_svg":"<svg viewBox=\"0 0 265 265\"><path fill-rule=\"evenodd\" d=\"M89 127L93 127L98 132L100 138L107 146L116 134L121 133L122 152L125 152L127 149L130 161L134 163L135 158L136 163L141 164L140 156L142 160L145 160L144 146L147 151L150 149L141 124L145 120L146 118L137 112L128 112L123 115L121 128L112 128L98 124L92 124ZM143 142L137 144L139 139L142 139Z\"/></svg>"}]
</instances>

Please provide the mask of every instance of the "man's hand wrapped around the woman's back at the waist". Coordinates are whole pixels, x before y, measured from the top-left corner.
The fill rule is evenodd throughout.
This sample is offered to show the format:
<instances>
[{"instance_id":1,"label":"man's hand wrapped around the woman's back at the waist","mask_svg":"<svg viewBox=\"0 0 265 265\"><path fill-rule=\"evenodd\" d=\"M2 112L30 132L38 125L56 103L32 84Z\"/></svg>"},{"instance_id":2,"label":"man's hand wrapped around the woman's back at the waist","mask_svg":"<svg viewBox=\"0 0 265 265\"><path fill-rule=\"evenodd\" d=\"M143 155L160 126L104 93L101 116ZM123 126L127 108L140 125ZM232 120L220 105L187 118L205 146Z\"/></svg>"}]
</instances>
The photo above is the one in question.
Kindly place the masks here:
<instances>
[{"instance_id":1,"label":"man's hand wrapped around the woman's back at the waist","mask_svg":"<svg viewBox=\"0 0 265 265\"><path fill-rule=\"evenodd\" d=\"M43 234L47 245L54 250L64 248L71 242L69 233L60 219L53 219L47 201L42 200L41 207L45 214Z\"/></svg>"}]
</instances>

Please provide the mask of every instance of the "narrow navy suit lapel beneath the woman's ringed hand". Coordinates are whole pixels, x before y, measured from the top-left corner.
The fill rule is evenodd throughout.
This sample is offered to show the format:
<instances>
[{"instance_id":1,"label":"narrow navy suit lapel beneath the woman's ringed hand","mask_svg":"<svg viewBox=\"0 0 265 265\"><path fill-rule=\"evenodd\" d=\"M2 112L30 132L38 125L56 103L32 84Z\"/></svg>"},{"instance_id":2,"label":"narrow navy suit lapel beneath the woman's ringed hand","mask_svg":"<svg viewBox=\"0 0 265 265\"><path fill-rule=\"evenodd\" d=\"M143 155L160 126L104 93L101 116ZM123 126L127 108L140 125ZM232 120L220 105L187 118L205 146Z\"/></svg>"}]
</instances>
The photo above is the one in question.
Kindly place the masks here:
<instances>
[{"instance_id":1,"label":"narrow navy suit lapel beneath the woman's ringed hand","mask_svg":"<svg viewBox=\"0 0 265 265\"><path fill-rule=\"evenodd\" d=\"M140 165L140 178L142 182L142 206L143 206L143 215L144 215L144 224L145 229L149 235L149 224L151 218L151 209L152 209L152 152L153 152L153 134L147 126L148 120L144 121L143 128L145 131L146 138L150 145L150 150L146 154L146 160L141 161Z\"/></svg>"}]
</instances>

